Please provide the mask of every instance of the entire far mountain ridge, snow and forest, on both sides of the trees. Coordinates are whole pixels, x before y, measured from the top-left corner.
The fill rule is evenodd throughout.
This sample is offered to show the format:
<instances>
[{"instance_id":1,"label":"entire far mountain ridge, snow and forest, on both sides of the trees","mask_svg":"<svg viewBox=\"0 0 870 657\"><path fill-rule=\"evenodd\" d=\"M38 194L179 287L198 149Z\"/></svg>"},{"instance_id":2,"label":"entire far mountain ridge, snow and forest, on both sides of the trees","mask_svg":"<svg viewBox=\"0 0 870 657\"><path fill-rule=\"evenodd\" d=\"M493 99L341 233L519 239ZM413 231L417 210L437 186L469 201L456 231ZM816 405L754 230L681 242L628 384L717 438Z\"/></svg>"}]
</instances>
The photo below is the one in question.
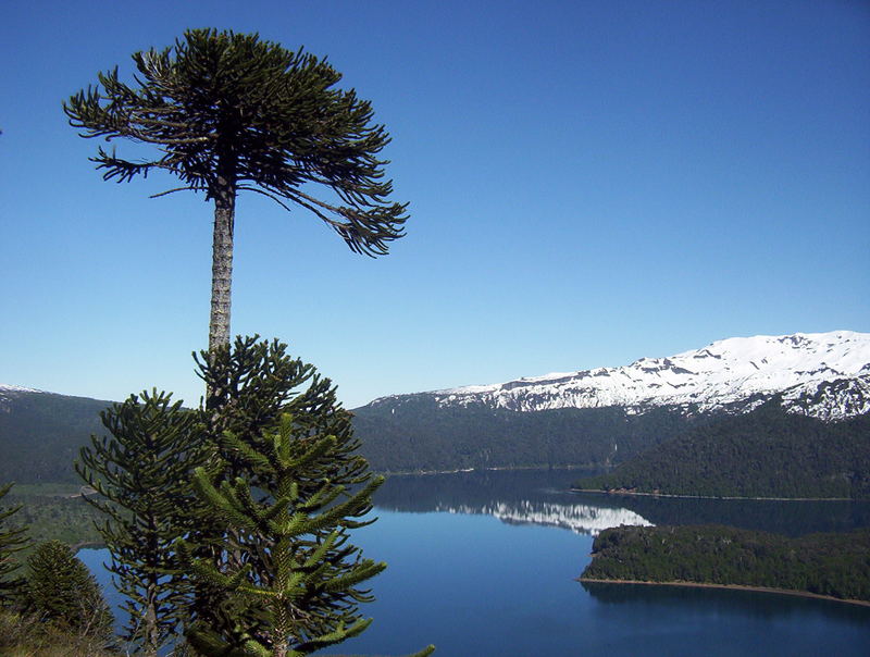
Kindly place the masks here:
<instances>
[{"instance_id":1,"label":"entire far mountain ridge, snow and forest, on both sides of the trees","mask_svg":"<svg viewBox=\"0 0 870 657\"><path fill-rule=\"evenodd\" d=\"M687 363L694 363L692 369ZM552 376L544 376L382 397L352 411L360 451L381 472L610 468L686 431L728 416L737 419L765 404L840 423L870 413L870 334L728 338L695 351L580 374L561 374L555 384ZM634 387L626 385L632 375ZM543 381L548 383L542 389ZM604 387L611 392L619 382L629 393L645 382L659 386L649 386L652 395L626 393L631 404L619 405L612 396L596 397L595 386L587 385L601 381L609 382ZM566 404L584 395L592 399L585 407ZM511 410L517 408L507 404L511 399L524 400L525 412ZM72 460L90 434L105 433L99 412L109 405L0 385L0 481L77 481Z\"/></svg>"}]
</instances>

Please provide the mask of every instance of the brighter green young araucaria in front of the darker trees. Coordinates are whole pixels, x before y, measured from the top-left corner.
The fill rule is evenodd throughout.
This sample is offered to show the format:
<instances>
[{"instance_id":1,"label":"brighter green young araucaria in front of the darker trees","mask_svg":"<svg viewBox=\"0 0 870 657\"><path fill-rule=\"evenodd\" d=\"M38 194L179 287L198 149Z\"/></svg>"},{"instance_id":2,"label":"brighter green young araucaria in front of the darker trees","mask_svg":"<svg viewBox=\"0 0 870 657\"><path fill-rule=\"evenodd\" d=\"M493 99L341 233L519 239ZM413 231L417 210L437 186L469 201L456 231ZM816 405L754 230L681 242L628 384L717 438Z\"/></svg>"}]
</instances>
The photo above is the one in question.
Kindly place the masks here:
<instances>
[{"instance_id":1,"label":"brighter green young araucaria in front of the darker trees","mask_svg":"<svg viewBox=\"0 0 870 657\"><path fill-rule=\"evenodd\" d=\"M216 483L204 468L194 480L212 513L235 530L244 565L233 570L191 559L191 567L195 578L231 593L258 622L231 636L199 627L191 644L209 655L227 647L308 655L362 632L371 620L361 618L358 605L371 596L359 585L386 565L363 559L348 543L348 530L370 522L360 519L383 478L369 478L356 492L335 484L328 473L338 438L311 432L289 413L256 445L232 433L223 444L256 475L257 487L253 478Z\"/></svg>"}]
</instances>

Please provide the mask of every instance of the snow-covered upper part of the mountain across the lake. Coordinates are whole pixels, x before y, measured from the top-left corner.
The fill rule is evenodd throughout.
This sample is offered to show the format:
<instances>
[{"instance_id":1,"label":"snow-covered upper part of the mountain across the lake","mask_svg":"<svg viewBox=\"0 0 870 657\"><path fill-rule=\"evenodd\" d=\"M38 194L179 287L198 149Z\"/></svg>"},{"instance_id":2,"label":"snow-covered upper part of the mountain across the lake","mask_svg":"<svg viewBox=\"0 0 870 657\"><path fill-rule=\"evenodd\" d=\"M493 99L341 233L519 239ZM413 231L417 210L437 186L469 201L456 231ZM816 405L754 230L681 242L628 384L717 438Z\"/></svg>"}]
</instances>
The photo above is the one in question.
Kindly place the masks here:
<instances>
[{"instance_id":1,"label":"snow-covered upper part of the mountain across the lake","mask_svg":"<svg viewBox=\"0 0 870 657\"><path fill-rule=\"evenodd\" d=\"M853 331L732 337L621 368L547 374L425 393L440 406L515 411L668 406L746 412L776 394L791 412L826 421L870 412L870 334ZM401 396L384 397L373 405Z\"/></svg>"}]
</instances>

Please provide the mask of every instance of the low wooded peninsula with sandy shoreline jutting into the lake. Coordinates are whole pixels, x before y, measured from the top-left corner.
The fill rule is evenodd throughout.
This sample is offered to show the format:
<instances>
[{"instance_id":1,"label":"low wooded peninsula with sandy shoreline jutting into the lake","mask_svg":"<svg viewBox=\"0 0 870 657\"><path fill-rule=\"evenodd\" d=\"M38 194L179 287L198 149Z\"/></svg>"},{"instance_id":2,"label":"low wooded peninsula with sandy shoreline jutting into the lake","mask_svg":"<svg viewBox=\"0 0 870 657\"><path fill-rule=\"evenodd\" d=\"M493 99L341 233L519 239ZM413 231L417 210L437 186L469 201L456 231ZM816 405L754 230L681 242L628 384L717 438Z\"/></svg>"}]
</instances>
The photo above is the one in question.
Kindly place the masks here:
<instances>
[{"instance_id":1,"label":"low wooded peninsula with sandy shoreline jutting into the lake","mask_svg":"<svg viewBox=\"0 0 870 657\"><path fill-rule=\"evenodd\" d=\"M782 588L870 602L870 529L790 538L721 525L619 526L593 543L581 581Z\"/></svg>"}]
</instances>

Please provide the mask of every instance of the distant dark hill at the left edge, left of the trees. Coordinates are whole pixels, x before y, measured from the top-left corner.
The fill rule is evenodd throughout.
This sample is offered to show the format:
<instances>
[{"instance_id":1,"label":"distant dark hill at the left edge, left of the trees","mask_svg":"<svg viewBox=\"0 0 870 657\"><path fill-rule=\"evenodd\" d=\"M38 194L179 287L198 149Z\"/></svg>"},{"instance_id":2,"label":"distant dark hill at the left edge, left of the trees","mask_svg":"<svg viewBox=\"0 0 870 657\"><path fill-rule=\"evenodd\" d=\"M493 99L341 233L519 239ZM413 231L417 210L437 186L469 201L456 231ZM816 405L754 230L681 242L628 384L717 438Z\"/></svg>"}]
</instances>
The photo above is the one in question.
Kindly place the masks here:
<instances>
[{"instance_id":1,"label":"distant dark hill at the left edge, left of the trees","mask_svg":"<svg viewBox=\"0 0 870 657\"><path fill-rule=\"evenodd\" d=\"M73 459L110 401L0 386L0 482L78 483Z\"/></svg>"}]
</instances>

